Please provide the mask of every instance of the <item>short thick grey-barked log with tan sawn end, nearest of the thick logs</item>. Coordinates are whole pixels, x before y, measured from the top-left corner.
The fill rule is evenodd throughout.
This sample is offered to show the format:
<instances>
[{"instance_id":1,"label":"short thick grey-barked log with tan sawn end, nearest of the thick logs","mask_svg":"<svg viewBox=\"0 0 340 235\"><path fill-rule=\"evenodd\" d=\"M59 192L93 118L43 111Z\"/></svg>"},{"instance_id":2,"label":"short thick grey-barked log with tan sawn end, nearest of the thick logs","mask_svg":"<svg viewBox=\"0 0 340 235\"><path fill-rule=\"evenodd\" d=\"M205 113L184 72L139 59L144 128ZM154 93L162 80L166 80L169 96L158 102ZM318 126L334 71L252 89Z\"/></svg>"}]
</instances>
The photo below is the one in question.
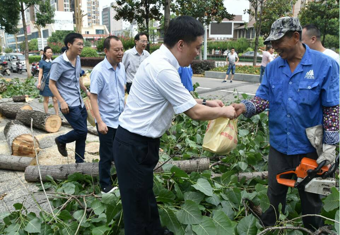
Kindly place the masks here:
<instances>
[{"instance_id":1,"label":"short thick grey-barked log with tan sawn end, nearest of the thick logs","mask_svg":"<svg viewBox=\"0 0 340 235\"><path fill-rule=\"evenodd\" d=\"M4 130L8 147L11 150L12 155L35 157L34 142L30 133L30 130L20 121L9 121ZM35 139L35 148L39 153L39 142Z\"/></svg>"}]
</instances>

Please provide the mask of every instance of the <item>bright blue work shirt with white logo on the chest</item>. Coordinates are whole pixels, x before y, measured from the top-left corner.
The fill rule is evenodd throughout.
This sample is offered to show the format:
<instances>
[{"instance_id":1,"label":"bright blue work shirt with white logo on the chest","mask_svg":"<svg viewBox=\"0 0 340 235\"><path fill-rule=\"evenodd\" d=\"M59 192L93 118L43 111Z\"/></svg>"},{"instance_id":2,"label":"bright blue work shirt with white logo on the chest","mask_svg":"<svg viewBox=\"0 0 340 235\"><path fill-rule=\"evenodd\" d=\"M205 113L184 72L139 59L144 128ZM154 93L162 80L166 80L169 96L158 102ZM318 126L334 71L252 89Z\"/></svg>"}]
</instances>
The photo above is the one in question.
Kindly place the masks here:
<instances>
[{"instance_id":1,"label":"bright blue work shirt with white logo on the chest","mask_svg":"<svg viewBox=\"0 0 340 235\"><path fill-rule=\"evenodd\" d=\"M339 65L304 47L294 72L281 57L270 62L256 92L269 101L270 145L287 155L315 152L306 128L323 123L322 106L339 105Z\"/></svg>"}]
</instances>

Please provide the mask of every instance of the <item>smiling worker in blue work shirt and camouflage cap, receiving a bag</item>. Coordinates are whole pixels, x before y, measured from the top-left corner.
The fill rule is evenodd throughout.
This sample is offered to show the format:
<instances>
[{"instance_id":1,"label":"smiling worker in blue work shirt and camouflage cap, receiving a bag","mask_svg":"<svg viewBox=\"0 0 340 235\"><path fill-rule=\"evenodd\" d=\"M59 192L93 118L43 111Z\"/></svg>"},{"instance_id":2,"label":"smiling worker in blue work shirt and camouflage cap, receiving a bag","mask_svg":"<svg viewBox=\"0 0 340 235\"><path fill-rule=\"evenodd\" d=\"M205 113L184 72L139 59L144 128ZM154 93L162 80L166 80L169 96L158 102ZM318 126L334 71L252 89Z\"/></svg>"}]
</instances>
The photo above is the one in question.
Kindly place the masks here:
<instances>
[{"instance_id":1,"label":"smiling worker in blue work shirt and camouflage cap, receiving a bag","mask_svg":"<svg viewBox=\"0 0 340 235\"><path fill-rule=\"evenodd\" d=\"M285 213L288 187L278 184L276 175L295 168L304 157L318 164L332 163L339 142L339 65L303 44L301 31L299 20L293 17L283 17L272 24L264 44L271 43L280 57L267 65L256 96L233 104L236 115L243 113L247 118L266 108L270 110L267 196L271 206L262 211L264 226L274 226L279 220L280 203ZM319 156L306 134L307 128L315 126L321 127L323 135ZM319 194L299 190L299 195L303 215L321 213ZM302 220L310 230L323 225L317 216Z\"/></svg>"}]
</instances>

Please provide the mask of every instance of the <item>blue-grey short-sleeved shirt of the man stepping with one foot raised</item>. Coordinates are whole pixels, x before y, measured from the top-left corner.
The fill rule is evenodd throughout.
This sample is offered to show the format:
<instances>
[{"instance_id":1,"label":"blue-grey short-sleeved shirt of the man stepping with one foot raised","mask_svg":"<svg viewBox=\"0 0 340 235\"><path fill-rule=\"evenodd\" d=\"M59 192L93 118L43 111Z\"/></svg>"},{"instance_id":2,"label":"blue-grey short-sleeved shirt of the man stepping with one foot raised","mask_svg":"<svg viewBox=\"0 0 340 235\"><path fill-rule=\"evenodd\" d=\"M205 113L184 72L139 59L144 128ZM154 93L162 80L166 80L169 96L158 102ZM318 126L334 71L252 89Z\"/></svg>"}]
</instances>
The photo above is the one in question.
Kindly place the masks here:
<instances>
[{"instance_id":1,"label":"blue-grey short-sleeved shirt of the man stepping with one foot raised","mask_svg":"<svg viewBox=\"0 0 340 235\"><path fill-rule=\"evenodd\" d=\"M80 94L80 71L80 57L77 56L76 66L73 66L66 56L66 51L52 61L50 79L56 82L59 94L70 107L84 106Z\"/></svg>"}]
</instances>

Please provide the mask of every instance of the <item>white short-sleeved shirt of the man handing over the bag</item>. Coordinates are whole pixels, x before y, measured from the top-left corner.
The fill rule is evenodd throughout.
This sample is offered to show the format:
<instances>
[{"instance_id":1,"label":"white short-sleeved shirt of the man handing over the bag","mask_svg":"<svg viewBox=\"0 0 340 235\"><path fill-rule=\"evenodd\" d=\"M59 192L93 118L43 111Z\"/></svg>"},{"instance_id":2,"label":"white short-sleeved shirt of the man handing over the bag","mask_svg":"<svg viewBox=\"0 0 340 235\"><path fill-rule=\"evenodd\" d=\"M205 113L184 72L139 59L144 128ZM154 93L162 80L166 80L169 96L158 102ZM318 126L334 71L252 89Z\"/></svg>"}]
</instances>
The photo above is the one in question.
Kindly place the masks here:
<instances>
[{"instance_id":1,"label":"white short-sleeved shirt of the man handing over the bag","mask_svg":"<svg viewBox=\"0 0 340 235\"><path fill-rule=\"evenodd\" d=\"M119 125L132 133L158 138L169 128L174 114L195 106L196 100L181 82L179 68L164 45L146 58L133 78Z\"/></svg>"}]
</instances>

